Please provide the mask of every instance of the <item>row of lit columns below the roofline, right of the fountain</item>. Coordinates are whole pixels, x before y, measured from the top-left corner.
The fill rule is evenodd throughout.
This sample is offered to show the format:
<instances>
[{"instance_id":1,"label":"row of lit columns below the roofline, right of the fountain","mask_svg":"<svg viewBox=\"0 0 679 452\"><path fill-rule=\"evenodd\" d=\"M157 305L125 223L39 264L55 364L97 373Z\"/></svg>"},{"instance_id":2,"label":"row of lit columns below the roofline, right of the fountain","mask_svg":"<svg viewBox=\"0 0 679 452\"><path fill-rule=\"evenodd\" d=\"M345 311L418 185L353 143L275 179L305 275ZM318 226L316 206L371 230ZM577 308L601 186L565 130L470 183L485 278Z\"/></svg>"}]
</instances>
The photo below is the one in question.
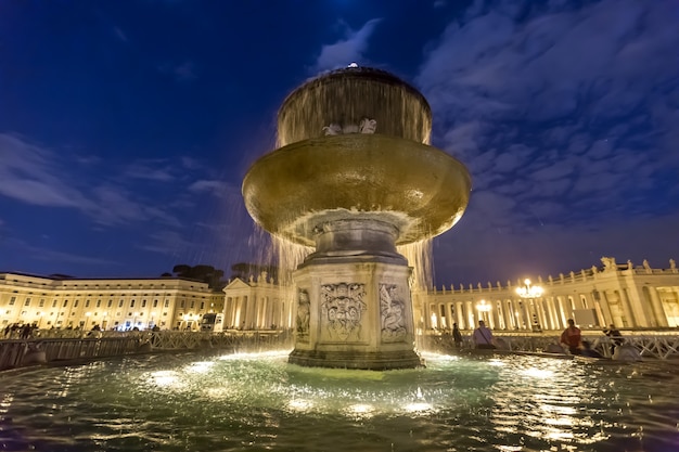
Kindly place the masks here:
<instances>
[{"instance_id":1,"label":"row of lit columns below the roofline, right of the fountain","mask_svg":"<svg viewBox=\"0 0 679 452\"><path fill-rule=\"evenodd\" d=\"M611 323L625 328L679 326L679 284L581 289L558 286L543 296L522 298L508 286L421 293L413 299L425 330L451 330L453 323L473 330L479 320L494 330L524 332L563 330L568 319L586 328Z\"/></svg>"}]
</instances>

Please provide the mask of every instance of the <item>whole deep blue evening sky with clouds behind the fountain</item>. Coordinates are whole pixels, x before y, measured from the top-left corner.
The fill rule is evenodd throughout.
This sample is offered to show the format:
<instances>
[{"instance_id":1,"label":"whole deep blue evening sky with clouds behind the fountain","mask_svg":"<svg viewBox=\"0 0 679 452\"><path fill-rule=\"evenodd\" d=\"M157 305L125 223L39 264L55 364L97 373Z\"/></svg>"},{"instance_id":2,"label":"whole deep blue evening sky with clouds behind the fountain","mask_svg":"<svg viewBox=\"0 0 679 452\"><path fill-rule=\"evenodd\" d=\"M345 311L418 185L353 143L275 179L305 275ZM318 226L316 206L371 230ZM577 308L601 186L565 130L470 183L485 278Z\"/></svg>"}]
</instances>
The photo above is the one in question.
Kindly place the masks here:
<instances>
[{"instance_id":1,"label":"whole deep blue evening sky with clouds behind the fountain","mask_svg":"<svg viewBox=\"0 0 679 452\"><path fill-rule=\"evenodd\" d=\"M679 259L679 2L0 2L0 271L262 255L241 182L285 95L351 62L420 89L474 188L438 285Z\"/></svg>"}]
</instances>

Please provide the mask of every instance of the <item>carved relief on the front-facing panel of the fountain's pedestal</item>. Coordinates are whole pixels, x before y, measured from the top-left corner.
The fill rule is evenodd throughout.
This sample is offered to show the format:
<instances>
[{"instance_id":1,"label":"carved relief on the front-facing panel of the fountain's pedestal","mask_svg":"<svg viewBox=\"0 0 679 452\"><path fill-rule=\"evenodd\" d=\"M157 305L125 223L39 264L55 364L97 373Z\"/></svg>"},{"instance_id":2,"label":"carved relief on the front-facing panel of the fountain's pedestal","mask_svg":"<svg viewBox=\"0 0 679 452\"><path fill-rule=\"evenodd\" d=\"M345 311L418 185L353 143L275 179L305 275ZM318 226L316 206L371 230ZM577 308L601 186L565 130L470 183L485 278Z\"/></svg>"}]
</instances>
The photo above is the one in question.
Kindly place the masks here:
<instances>
[{"instance_id":1,"label":"carved relief on the front-facing panel of the fountain's pedestal","mask_svg":"<svg viewBox=\"0 0 679 452\"><path fill-rule=\"evenodd\" d=\"M321 334L325 340L361 340L361 321L367 305L364 284L321 285Z\"/></svg>"}]
</instances>

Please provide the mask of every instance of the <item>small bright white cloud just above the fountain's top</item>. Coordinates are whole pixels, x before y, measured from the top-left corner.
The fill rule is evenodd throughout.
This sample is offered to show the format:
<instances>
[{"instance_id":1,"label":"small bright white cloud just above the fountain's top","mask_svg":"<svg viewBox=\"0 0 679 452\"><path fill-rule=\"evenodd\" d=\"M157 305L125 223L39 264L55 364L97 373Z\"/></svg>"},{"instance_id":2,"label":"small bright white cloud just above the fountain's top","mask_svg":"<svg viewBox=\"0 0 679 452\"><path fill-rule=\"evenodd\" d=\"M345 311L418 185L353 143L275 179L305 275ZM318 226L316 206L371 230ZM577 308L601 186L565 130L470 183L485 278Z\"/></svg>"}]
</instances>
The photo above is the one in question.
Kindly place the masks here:
<instances>
[{"instance_id":1,"label":"small bright white cloud just above the fountain's top","mask_svg":"<svg viewBox=\"0 0 679 452\"><path fill-rule=\"evenodd\" d=\"M359 30L347 29L345 37L332 44L321 48L321 53L316 60L313 72L323 72L346 67L350 63L361 63L368 49L368 39L380 23L380 18L368 21ZM346 27L346 25L343 27Z\"/></svg>"}]
</instances>

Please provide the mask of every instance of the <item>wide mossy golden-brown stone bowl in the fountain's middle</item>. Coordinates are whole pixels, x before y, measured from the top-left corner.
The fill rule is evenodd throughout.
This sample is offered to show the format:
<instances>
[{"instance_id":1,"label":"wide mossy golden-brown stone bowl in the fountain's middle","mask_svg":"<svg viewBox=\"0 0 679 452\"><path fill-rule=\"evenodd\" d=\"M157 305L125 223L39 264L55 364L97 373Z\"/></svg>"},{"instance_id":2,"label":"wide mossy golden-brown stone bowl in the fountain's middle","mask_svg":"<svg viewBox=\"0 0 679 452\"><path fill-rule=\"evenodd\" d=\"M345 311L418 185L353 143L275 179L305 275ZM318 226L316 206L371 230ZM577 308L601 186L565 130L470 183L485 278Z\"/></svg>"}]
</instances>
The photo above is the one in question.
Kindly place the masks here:
<instances>
[{"instance_id":1,"label":"wide mossy golden-brown stone bowl in the fountain's middle","mask_svg":"<svg viewBox=\"0 0 679 452\"><path fill-rule=\"evenodd\" d=\"M433 237L462 217L471 177L426 144L341 134L289 144L259 158L243 181L245 207L265 230L315 246L324 223L370 219L397 228L396 245Z\"/></svg>"}]
</instances>

